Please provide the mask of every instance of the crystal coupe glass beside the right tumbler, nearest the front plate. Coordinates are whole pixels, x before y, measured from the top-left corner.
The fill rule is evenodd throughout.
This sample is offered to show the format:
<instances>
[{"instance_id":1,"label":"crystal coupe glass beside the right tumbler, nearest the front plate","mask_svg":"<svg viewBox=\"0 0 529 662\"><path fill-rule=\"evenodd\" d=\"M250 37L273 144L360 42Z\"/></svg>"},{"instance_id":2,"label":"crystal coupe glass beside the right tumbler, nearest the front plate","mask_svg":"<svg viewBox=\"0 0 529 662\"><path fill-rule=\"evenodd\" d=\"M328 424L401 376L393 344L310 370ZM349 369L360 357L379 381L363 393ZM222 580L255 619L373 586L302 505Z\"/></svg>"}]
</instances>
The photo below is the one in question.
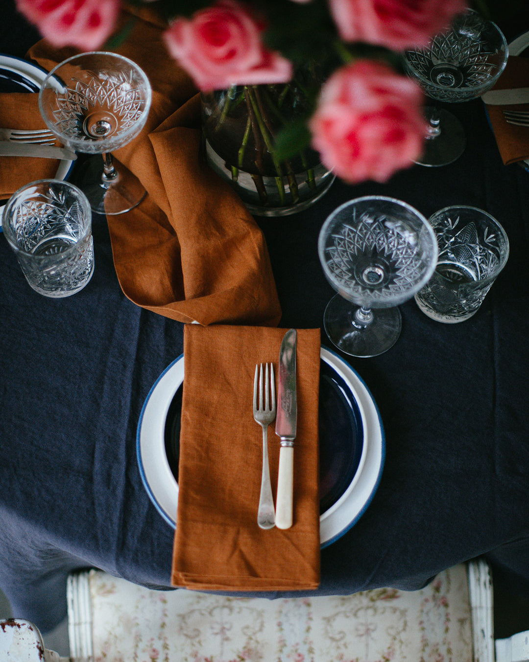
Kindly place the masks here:
<instances>
[{"instance_id":1,"label":"crystal coupe glass beside the right tumbler, nearest the front plate","mask_svg":"<svg viewBox=\"0 0 529 662\"><path fill-rule=\"evenodd\" d=\"M318 253L338 292L325 308L329 340L345 354L376 356L401 332L401 303L425 285L437 263L437 242L423 214L383 196L348 201L325 220Z\"/></svg>"}]
</instances>

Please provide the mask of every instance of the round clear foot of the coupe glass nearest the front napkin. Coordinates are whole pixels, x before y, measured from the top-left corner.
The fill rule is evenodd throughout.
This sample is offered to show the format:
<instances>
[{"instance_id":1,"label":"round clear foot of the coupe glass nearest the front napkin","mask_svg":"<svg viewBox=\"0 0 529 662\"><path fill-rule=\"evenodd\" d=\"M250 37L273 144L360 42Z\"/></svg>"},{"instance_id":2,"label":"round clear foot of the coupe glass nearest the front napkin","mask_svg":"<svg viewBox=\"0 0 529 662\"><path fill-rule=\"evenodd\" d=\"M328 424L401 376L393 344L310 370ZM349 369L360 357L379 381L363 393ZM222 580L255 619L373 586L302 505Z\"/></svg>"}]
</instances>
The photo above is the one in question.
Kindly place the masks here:
<instances>
[{"instance_id":1,"label":"round clear foot of the coupe glass nearest the front napkin","mask_svg":"<svg viewBox=\"0 0 529 662\"><path fill-rule=\"evenodd\" d=\"M358 306L335 295L325 308L323 326L329 340L345 354L368 358L387 352L400 336L399 308L372 308L372 322L363 326L354 321Z\"/></svg>"}]
</instances>

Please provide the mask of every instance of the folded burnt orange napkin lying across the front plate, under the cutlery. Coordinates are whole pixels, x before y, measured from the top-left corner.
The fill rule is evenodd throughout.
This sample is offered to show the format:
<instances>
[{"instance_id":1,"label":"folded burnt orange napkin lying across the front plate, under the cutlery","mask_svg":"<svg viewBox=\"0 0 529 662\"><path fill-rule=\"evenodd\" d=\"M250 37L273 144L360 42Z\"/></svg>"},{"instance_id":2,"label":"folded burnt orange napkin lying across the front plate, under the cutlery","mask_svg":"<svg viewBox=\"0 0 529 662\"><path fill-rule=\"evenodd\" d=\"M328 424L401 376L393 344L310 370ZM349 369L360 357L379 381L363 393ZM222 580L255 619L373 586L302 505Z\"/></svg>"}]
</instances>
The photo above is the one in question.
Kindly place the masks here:
<instances>
[{"instance_id":1,"label":"folded burnt orange napkin lying across the front plate, under the cutlery","mask_svg":"<svg viewBox=\"0 0 529 662\"><path fill-rule=\"evenodd\" d=\"M263 433L253 420L255 365L272 361L277 376L285 332L196 324L184 329L175 586L280 591L319 584L319 329L298 330L294 523L288 530L257 526ZM272 423L274 496L279 444Z\"/></svg>"}]
</instances>

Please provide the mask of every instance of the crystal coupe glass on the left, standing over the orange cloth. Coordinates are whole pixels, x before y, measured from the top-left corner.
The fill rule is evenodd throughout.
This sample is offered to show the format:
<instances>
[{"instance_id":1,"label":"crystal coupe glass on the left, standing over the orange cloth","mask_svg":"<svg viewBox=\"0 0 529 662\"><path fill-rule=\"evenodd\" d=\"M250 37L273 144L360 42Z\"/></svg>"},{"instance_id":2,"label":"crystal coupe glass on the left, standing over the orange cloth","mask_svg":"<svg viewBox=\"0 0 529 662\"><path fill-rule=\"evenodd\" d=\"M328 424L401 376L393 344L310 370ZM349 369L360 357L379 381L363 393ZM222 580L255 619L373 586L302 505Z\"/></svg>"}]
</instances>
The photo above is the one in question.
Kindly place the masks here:
<instances>
[{"instance_id":1,"label":"crystal coupe glass on the left, standing over the orange cloth","mask_svg":"<svg viewBox=\"0 0 529 662\"><path fill-rule=\"evenodd\" d=\"M135 138L147 120L151 85L140 67L114 53L73 56L48 73L38 103L61 142L97 155L87 159L76 181L92 211L121 214L136 207L145 189L110 152Z\"/></svg>"}]
</instances>

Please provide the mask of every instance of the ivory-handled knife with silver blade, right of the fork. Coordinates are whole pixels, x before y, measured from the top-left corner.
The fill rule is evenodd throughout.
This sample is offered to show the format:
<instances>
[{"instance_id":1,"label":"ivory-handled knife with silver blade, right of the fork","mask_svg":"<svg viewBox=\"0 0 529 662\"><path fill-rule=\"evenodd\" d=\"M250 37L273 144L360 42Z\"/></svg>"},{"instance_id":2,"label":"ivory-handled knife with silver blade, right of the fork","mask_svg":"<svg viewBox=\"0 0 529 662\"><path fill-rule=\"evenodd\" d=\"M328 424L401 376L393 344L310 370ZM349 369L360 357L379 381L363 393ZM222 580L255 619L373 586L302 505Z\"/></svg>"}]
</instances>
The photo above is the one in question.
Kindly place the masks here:
<instances>
[{"instance_id":1,"label":"ivory-handled knife with silver blade, right of the fork","mask_svg":"<svg viewBox=\"0 0 529 662\"><path fill-rule=\"evenodd\" d=\"M281 438L276 498L276 527L292 526L294 502L294 439L298 425L296 393L296 346L298 332L290 329L284 335L279 352L278 407L276 435Z\"/></svg>"}]
</instances>

